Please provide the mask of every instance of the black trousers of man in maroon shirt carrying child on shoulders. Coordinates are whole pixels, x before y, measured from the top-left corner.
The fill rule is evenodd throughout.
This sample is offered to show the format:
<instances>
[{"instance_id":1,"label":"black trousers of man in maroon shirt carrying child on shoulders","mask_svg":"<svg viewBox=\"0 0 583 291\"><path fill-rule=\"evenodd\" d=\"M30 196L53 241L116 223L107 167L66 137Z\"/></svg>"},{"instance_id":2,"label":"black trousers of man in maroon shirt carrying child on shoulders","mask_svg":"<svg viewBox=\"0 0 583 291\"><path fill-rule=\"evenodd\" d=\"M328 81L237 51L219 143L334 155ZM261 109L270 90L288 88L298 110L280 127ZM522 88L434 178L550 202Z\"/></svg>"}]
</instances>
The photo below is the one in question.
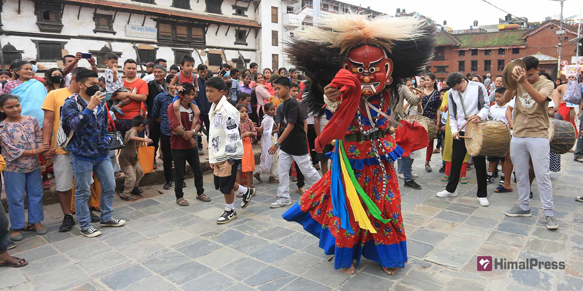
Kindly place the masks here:
<instances>
[{"instance_id":1,"label":"black trousers of man in maroon shirt carrying child on shoulders","mask_svg":"<svg viewBox=\"0 0 583 291\"><path fill-rule=\"evenodd\" d=\"M189 150L172 150L172 158L174 159L174 168L176 169L176 176L174 179L174 194L176 195L176 199L184 197L184 192L182 192L182 182L184 182L186 162L188 162L192 173L194 173L196 194L201 196L205 193L202 182L201 162L198 159L198 151L195 148Z\"/></svg>"}]
</instances>

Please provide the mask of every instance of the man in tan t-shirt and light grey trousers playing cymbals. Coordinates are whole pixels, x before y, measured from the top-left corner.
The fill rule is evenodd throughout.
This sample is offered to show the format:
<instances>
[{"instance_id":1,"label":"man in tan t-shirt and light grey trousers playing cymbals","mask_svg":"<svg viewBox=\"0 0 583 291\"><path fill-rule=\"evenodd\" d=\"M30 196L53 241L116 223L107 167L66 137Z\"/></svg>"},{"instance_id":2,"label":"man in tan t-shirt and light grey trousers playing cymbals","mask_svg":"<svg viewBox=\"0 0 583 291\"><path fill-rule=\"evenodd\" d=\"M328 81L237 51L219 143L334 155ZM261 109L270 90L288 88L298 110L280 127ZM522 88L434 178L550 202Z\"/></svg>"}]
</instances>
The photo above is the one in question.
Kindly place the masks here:
<instances>
[{"instance_id":1,"label":"man in tan t-shirt and light grey trousers playing cymbals","mask_svg":"<svg viewBox=\"0 0 583 291\"><path fill-rule=\"evenodd\" d=\"M514 126L510 141L510 157L515 166L520 205L506 211L508 217L531 217L530 183L528 178L529 160L536 174L540 201L548 229L559 228L553 216L553 187L549 170L549 115L547 108L553 95L553 81L539 77L539 60L533 56L522 59L526 68L512 72L512 79L518 81L516 91L507 90L504 100L516 96Z\"/></svg>"}]
</instances>

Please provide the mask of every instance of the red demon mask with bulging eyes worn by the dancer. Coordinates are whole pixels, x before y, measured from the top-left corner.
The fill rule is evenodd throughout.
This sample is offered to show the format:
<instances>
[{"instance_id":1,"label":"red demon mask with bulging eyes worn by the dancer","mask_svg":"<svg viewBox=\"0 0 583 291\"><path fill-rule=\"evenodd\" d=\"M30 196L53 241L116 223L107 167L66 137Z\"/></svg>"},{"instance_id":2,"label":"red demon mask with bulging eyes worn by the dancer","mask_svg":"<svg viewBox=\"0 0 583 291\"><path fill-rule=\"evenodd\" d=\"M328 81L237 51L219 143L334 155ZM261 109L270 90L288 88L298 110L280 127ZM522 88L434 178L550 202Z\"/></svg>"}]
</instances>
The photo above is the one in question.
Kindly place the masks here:
<instances>
[{"instance_id":1,"label":"red demon mask with bulging eyes worn by the dancer","mask_svg":"<svg viewBox=\"0 0 583 291\"><path fill-rule=\"evenodd\" d=\"M372 45L352 49L343 68L360 80L364 96L376 95L393 82L393 62L387 58L384 49Z\"/></svg>"}]
</instances>

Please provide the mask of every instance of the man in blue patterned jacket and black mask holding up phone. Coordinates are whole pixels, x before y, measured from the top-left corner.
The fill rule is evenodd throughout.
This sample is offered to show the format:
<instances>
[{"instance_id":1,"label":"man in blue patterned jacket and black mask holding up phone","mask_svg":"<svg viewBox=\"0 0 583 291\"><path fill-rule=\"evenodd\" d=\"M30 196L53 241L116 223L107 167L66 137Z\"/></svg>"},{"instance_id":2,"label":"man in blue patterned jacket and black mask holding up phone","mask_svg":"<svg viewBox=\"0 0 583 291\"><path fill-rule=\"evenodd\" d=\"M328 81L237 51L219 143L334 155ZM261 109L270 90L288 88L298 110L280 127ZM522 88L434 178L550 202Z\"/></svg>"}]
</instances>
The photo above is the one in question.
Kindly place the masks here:
<instances>
[{"instance_id":1,"label":"man in blue patterned jacket and black mask holding up phone","mask_svg":"<svg viewBox=\"0 0 583 291\"><path fill-rule=\"evenodd\" d=\"M108 156L111 136L108 129L108 113L105 93L100 92L99 76L87 69L75 74L79 94L65 100L62 108L62 133L65 140L58 143L71 152L71 166L75 177L75 210L81 234L96 237L101 232L91 224L87 201L91 195L92 173L101 183L100 226L122 226L124 220L114 219L113 198L115 178ZM62 136L63 134L58 134Z\"/></svg>"}]
</instances>

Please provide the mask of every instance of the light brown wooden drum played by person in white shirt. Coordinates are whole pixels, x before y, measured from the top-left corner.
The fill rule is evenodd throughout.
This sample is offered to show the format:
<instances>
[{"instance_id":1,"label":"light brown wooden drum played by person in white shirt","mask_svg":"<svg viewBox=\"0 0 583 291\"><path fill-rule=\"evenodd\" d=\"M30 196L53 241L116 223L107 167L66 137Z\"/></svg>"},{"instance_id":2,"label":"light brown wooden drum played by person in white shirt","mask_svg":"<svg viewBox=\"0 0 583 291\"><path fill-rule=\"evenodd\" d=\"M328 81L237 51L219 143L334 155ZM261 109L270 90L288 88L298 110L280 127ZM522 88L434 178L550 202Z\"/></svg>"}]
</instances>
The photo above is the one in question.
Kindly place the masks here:
<instances>
[{"instance_id":1,"label":"light brown wooden drum played by person in white shirt","mask_svg":"<svg viewBox=\"0 0 583 291\"><path fill-rule=\"evenodd\" d=\"M510 145L510 128L503 121L469 123L464 137L472 157L504 157Z\"/></svg>"}]
</instances>

